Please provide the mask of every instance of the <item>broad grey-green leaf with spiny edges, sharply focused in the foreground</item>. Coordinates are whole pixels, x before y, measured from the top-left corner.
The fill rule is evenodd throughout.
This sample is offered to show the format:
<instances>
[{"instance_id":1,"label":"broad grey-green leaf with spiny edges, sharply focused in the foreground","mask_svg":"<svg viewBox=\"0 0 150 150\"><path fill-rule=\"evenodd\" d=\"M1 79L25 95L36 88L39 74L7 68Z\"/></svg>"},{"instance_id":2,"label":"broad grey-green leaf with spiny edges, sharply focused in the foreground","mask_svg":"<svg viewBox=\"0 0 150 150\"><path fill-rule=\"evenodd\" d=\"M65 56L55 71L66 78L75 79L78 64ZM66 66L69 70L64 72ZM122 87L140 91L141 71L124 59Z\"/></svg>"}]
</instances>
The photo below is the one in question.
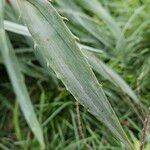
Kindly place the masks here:
<instances>
[{"instance_id":1,"label":"broad grey-green leaf with spiny edges, sharply focused in the foreground","mask_svg":"<svg viewBox=\"0 0 150 150\"><path fill-rule=\"evenodd\" d=\"M20 10L41 54L72 95L119 138L132 146L102 87L61 17L46 0L19 0Z\"/></svg>"}]
</instances>

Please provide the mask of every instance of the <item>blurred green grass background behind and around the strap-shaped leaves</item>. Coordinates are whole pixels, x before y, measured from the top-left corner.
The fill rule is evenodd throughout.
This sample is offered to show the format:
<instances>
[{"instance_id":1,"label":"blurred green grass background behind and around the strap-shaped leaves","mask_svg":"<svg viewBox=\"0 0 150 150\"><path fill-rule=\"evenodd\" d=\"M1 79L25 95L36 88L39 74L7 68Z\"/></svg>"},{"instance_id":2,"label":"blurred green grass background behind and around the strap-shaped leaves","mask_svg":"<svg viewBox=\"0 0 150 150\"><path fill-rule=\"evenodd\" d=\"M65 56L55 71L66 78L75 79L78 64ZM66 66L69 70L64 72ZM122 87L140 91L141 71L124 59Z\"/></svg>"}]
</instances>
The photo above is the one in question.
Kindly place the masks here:
<instances>
[{"instance_id":1,"label":"blurred green grass background behind and around the strap-shaped leaves","mask_svg":"<svg viewBox=\"0 0 150 150\"><path fill-rule=\"evenodd\" d=\"M82 1L83 2L83 1ZM99 0L119 26L125 37L123 50L116 48L117 37L113 35L105 19L78 0L56 0L53 5L62 16L68 18L67 26L80 43L100 52L95 53L113 68L135 91L146 112L150 106L150 16L148 0ZM87 8L88 7L88 8ZM95 6L96 7L96 6ZM96 9L95 9L96 10ZM88 17L98 28L88 26L79 16ZM85 16L86 15L86 16ZM19 14L7 3L5 19L21 23ZM84 19L83 19L84 20ZM115 32L115 31L114 31ZM98 34L96 34L98 33ZM101 33L101 34L99 34ZM30 51L31 40L8 32L25 77L34 109L43 126L47 149L124 149L108 129L80 106L80 118L85 138L78 128L75 99L55 76L49 77ZM118 35L119 37L120 35ZM104 40L103 40L104 39ZM109 43L109 44L108 44ZM123 52L122 52L123 51ZM95 72L112 104L119 120L135 147L142 137L142 121L135 113L132 101L118 87ZM149 149L150 135L147 136ZM14 96L7 72L0 57L0 149L40 149L32 135Z\"/></svg>"}]
</instances>

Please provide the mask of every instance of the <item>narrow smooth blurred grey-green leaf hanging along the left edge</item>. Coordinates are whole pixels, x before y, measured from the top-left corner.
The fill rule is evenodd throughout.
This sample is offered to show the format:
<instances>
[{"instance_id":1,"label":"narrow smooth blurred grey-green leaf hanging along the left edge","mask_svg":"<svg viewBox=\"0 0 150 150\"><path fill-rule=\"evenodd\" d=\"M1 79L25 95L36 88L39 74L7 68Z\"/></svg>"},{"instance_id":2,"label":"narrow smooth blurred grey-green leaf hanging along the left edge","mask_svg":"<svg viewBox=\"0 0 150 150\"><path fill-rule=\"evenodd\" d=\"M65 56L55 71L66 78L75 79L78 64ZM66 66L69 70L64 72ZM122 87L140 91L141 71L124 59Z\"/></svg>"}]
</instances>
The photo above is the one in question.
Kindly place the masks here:
<instances>
[{"instance_id":1,"label":"narrow smooth blurred grey-green leaf hanging along the left edge","mask_svg":"<svg viewBox=\"0 0 150 150\"><path fill-rule=\"evenodd\" d=\"M3 15L4 0L0 0L0 52L25 119L41 146L44 147L43 133L24 84L18 60L5 34Z\"/></svg>"}]
</instances>

